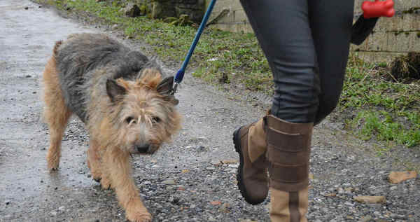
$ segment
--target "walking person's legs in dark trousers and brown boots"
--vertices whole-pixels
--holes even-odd
[[[312,127],[337,104],[348,55],[353,1],[339,7],[340,1],[317,1],[309,6],[307,1],[241,0],[241,4],[267,57],[276,88],[271,115],[235,131],[235,148],[241,157],[239,189],[246,200],[247,196],[264,200],[261,193],[255,199],[250,190],[267,186],[261,176],[267,166],[261,159],[266,154],[272,190],[270,218],[306,221]],[[327,52],[318,55],[320,50]],[[332,53],[335,50],[338,52]],[[320,56],[323,64],[318,69]],[[321,80],[319,70],[323,72]],[[335,76],[330,78],[330,74]]]

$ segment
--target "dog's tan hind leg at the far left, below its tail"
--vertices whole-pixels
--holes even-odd
[[[66,128],[71,111],[64,104],[64,97],[59,86],[55,57],[48,60],[43,72],[44,120],[50,129],[50,148],[48,148],[48,169],[55,170],[61,156],[62,135]]]

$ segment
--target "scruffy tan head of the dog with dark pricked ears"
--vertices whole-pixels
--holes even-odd
[[[162,80],[158,68],[143,69],[133,81],[106,82],[106,93],[118,114],[119,144],[130,153],[152,154],[181,128],[178,100],[171,95],[173,77]]]

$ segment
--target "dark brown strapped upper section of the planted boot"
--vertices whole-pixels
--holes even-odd
[[[267,117],[269,186],[298,191],[309,186],[309,156],[313,123],[288,123]]]

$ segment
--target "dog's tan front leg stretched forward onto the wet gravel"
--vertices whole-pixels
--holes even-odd
[[[119,148],[109,148],[103,161],[116,191],[118,202],[125,209],[127,219],[132,222],[151,221],[152,216],[144,207],[131,176],[129,154]]]

